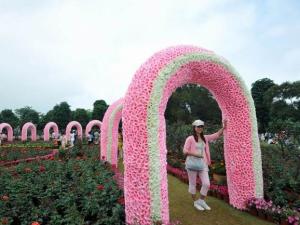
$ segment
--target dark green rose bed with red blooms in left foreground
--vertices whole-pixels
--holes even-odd
[[[97,160],[98,148],[80,150],[88,154],[75,148],[63,159],[0,168],[0,223],[125,224],[113,171]]]

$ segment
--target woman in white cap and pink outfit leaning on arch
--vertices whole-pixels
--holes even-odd
[[[204,201],[210,186],[208,166],[211,164],[211,160],[208,143],[216,140],[223,134],[224,129],[226,129],[226,120],[223,121],[223,127],[217,133],[211,135],[204,135],[204,122],[202,120],[195,120],[192,125],[193,135],[186,139],[183,147],[183,153],[187,155],[185,164],[189,178],[189,192],[192,195],[195,208],[198,210],[210,210],[211,208]],[[198,200],[196,200],[197,175],[202,183]]]

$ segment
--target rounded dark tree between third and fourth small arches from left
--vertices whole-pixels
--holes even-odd
[[[52,109],[52,120],[60,130],[65,130],[67,124],[72,120],[72,112],[67,102],[61,102]]]

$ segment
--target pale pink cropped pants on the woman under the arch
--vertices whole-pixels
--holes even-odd
[[[208,171],[187,170],[187,173],[189,177],[189,192],[193,195],[196,194],[196,180],[197,180],[197,175],[199,175],[202,183],[200,194],[206,196],[210,186]]]

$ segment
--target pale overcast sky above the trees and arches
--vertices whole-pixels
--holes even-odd
[[[225,57],[249,89],[300,80],[300,1],[0,0],[0,110],[111,104],[147,58],[180,44]]]

